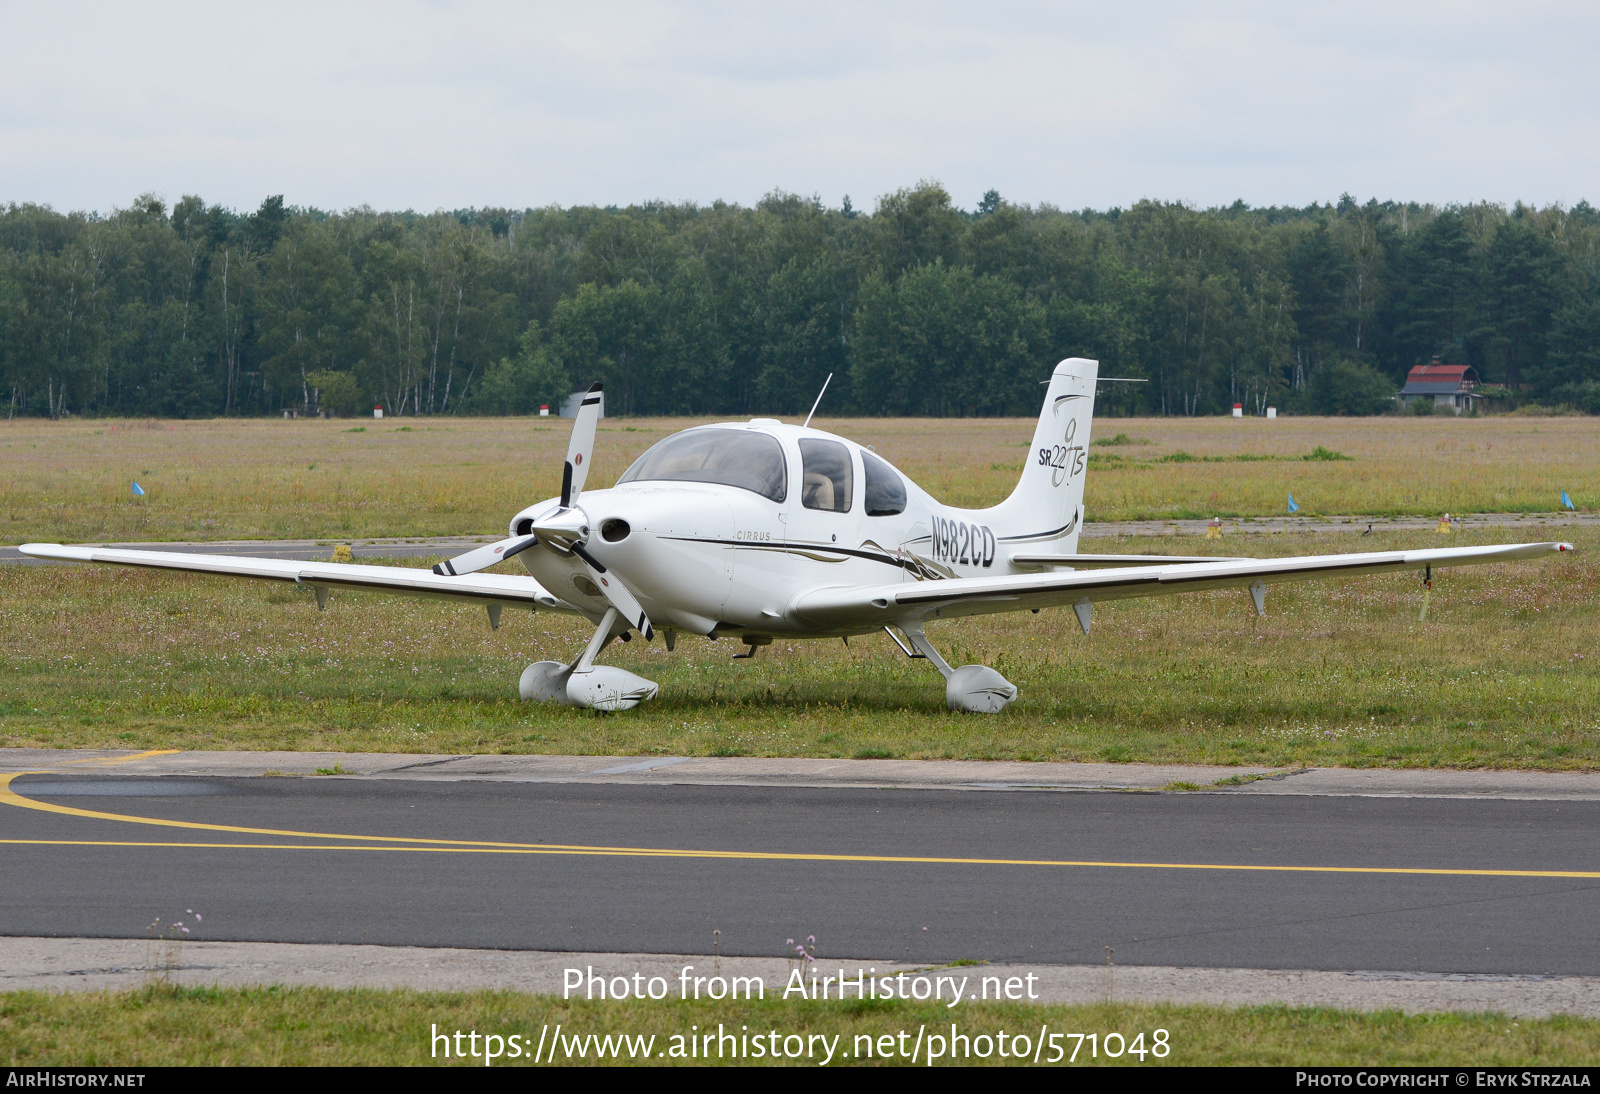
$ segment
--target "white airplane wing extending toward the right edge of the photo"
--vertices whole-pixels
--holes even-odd
[[[1518,561],[1568,550],[1573,550],[1571,544],[1506,544],[1299,558],[1227,558],[1171,566],[1118,566],[1086,573],[958,577],[896,585],[834,585],[802,592],[789,603],[786,614],[814,627],[875,629],[901,621],[954,619],[1098,600],[1165,597],[1202,589],[1248,587],[1256,582]],[[1061,560],[1064,565],[1070,561],[1070,558]]]

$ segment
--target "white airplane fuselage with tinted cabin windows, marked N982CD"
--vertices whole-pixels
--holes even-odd
[[[870,630],[806,625],[789,611],[798,593],[1018,573],[1013,553],[1075,542],[1077,525],[1074,515],[1070,528],[1043,526],[1048,518],[1040,528],[997,526],[998,507],[942,505],[870,448],[776,419],[675,433],[578,505],[589,518],[587,550],[624,579],[658,630],[755,641]],[[510,534],[558,507],[552,497],[523,509]],[[605,613],[578,558],[518,558],[590,619]]]

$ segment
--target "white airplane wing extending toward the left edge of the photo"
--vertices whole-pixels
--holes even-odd
[[[256,577],[310,585],[318,600],[328,589],[358,589],[410,597],[438,597],[474,605],[515,605],[546,611],[576,611],[533,577],[520,574],[470,574],[448,577],[411,566],[362,566],[358,563],[318,563],[294,558],[250,558],[245,555],[190,555],[187,552],[120,550],[115,547],[62,547],[61,544],[22,544],[18,547],[34,558],[58,561],[110,563],[144,569],[179,569],[192,574],[224,577]]]

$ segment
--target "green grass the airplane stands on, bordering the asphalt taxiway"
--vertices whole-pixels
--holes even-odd
[[[1101,550],[1310,553],[1485,542],[1499,529],[1370,537],[1125,539]],[[942,622],[954,664],[1021,688],[995,717],[888,638],[613,646],[661,683],[619,715],[515,697],[589,625],[507,611],[94,566],[0,566],[0,742],[590,755],[1198,761],[1600,769],[1600,533],[1576,555]],[[514,565],[514,563],[512,563]]]

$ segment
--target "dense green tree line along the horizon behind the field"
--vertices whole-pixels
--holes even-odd
[[[1600,210],[0,208],[8,417],[795,414],[829,373],[827,413],[1032,416],[1070,355],[1149,381],[1112,414],[1382,413],[1434,357],[1600,413]]]

